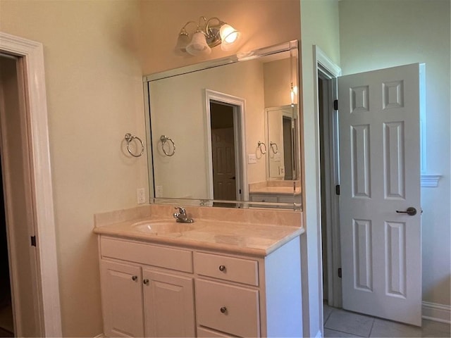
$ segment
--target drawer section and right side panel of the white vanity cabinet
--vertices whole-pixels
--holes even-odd
[[[197,337],[302,337],[299,237],[265,257],[194,253]]]

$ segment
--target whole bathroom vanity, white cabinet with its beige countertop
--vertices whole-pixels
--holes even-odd
[[[302,227],[133,217],[94,228],[106,336],[302,337]]]

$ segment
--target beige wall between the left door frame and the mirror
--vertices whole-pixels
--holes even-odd
[[[136,205],[146,158],[135,1],[0,1],[0,30],[44,44],[63,334],[102,332],[93,214]]]

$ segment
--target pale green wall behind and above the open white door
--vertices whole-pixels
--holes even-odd
[[[443,177],[438,187],[421,188],[423,300],[445,305],[451,298],[450,9],[449,0],[340,1],[344,75],[426,63],[426,172]]]

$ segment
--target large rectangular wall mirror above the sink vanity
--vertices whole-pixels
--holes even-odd
[[[302,209],[297,41],[144,77],[155,203]]]

